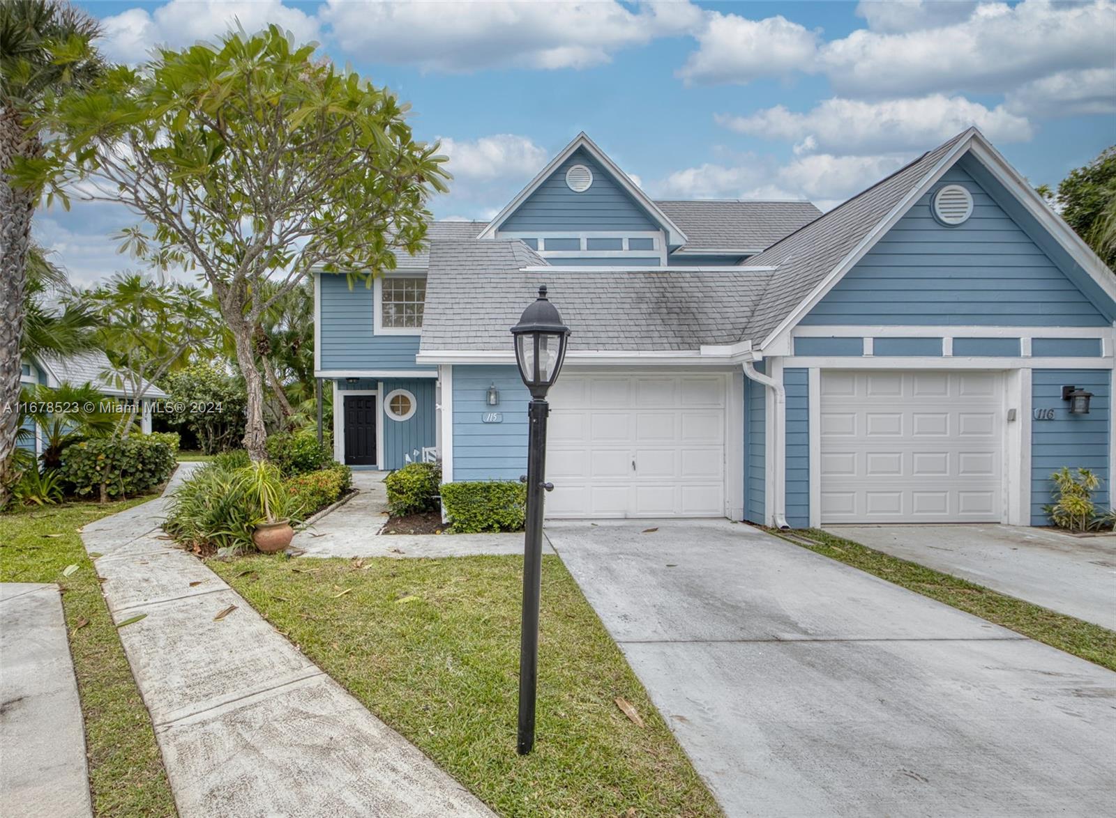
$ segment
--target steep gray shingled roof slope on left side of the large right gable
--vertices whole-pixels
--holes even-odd
[[[958,134],[759,255],[743,261],[743,266],[778,267],[768,279],[745,337],[753,343],[761,343],[969,134],[969,130]]]

